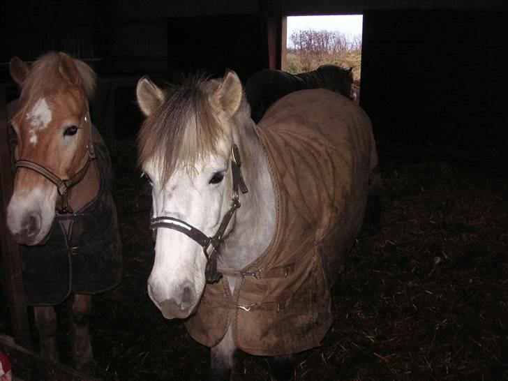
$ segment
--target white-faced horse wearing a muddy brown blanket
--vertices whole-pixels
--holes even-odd
[[[156,232],[149,296],[211,347],[212,378],[234,375],[237,349],[291,374],[281,364],[330,327],[329,288],[380,181],[371,122],[315,89],[256,126],[233,72],[165,91],[143,78],[137,102]]]

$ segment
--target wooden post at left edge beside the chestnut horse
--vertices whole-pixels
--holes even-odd
[[[16,343],[31,348],[27,304],[24,299],[20,248],[7,228],[6,208],[13,195],[6,90],[0,86],[0,240],[3,255],[3,285],[9,299],[10,322]]]

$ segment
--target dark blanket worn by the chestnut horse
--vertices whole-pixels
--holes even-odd
[[[94,148],[97,160],[93,163],[100,172],[98,195],[74,214],[57,214],[44,244],[20,245],[29,305],[59,304],[70,293],[96,294],[121,281],[121,241],[111,195],[110,155],[95,128]]]

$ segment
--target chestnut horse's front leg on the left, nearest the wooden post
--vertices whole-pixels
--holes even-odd
[[[57,343],[57,313],[52,306],[33,307],[39,331],[40,354],[45,359],[60,361]]]

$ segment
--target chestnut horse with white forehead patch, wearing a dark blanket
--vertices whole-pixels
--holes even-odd
[[[95,73],[64,53],[48,53],[33,66],[14,57],[10,74],[21,96],[10,119],[17,144],[7,223],[22,244],[27,303],[34,306],[41,353],[58,361],[53,306],[74,294],[73,358],[91,371],[91,294],[121,280],[110,157],[89,113]]]

